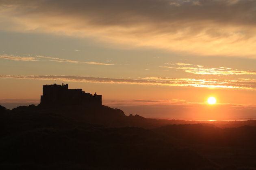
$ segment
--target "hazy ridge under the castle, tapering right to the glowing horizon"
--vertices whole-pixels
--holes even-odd
[[[84,121],[86,123],[100,124],[105,127],[143,127],[156,128],[170,124],[198,124],[207,123],[217,127],[240,127],[243,125],[256,126],[256,120],[248,121],[187,121],[187,120],[167,120],[167,119],[146,119],[139,115],[126,116],[124,112],[117,108],[108,106],[19,106],[12,109],[13,113],[52,113],[65,117]]]

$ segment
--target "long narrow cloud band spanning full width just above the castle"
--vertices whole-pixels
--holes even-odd
[[[235,89],[256,89],[254,79],[243,79],[237,81],[227,80],[206,80],[206,79],[183,79],[165,77],[145,77],[143,79],[112,79],[101,77],[80,77],[80,76],[57,76],[57,75],[0,75],[0,78],[13,79],[36,79],[36,80],[61,80],[90,83],[116,83],[116,84],[136,84],[136,85],[165,85],[165,86],[185,86],[185,87],[217,87]],[[165,81],[159,81],[165,80]]]

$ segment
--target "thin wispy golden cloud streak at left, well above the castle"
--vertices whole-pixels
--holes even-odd
[[[75,63],[75,64],[95,64],[95,65],[114,65],[114,64],[106,64],[106,63],[98,63],[98,62],[78,62],[74,60],[66,60],[56,57],[46,57],[42,55],[36,55],[35,57],[22,57],[20,55],[0,55],[0,58],[8,59],[8,60],[18,60],[18,61],[42,61],[42,59],[46,59],[46,61],[51,62],[67,62],[67,63]]]

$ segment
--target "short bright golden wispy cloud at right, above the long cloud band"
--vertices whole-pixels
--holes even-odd
[[[197,67],[193,67],[193,64],[185,64],[185,63],[176,63],[176,64],[165,63],[165,64],[173,65],[173,66],[160,66],[160,67],[180,69],[192,74],[212,74],[212,75],[220,75],[220,76],[242,75],[242,74],[256,75],[256,71],[254,70],[238,70],[238,69],[232,69],[232,68],[226,68],[226,67],[208,68],[200,65],[197,65]]]

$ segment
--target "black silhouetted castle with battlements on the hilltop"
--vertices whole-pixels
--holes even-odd
[[[102,95],[85,93],[82,89],[68,89],[68,84],[43,85],[40,105],[101,106]]]

